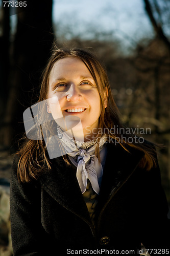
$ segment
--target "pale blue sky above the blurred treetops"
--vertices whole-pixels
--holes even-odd
[[[54,0],[53,20],[59,24],[59,33],[67,27],[68,34],[74,31],[85,37],[93,28],[112,31],[121,39],[153,35],[142,0]]]

